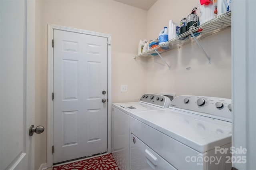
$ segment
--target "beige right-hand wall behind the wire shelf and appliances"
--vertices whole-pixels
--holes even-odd
[[[158,38],[169,20],[179,23],[198,2],[158,0],[148,10],[148,39]],[[158,56],[148,61],[148,92],[231,99],[231,29],[199,42],[211,58],[211,64],[196,43],[162,53],[171,70]],[[191,70],[187,71],[186,67],[191,67]]]

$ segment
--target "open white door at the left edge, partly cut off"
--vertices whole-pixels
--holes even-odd
[[[33,6],[26,0],[0,1],[1,170],[34,169],[34,138],[28,134],[34,123]]]

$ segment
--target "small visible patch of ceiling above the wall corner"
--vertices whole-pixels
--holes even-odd
[[[154,3],[157,0],[114,0],[117,2],[121,2],[123,4],[127,4],[130,6],[134,6],[143,10],[149,10],[149,8],[151,8],[152,5],[154,5]]]

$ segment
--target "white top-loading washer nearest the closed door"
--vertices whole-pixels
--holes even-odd
[[[156,94],[144,94],[138,102],[112,105],[112,154],[120,170],[130,170],[130,113],[156,111],[169,105],[168,97]]]

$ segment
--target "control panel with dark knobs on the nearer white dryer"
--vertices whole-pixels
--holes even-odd
[[[178,96],[172,100],[169,108],[223,121],[232,121],[231,99],[206,96]]]

